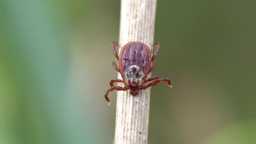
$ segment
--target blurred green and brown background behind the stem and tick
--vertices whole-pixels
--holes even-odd
[[[256,144],[256,10],[158,0],[151,144]],[[0,1],[0,144],[111,144],[119,0]]]

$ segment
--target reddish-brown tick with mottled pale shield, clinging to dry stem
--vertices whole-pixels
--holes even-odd
[[[141,42],[129,42],[122,47],[120,55],[118,56],[115,47],[119,47],[118,43],[112,43],[112,51],[115,55],[115,58],[118,60],[118,66],[115,62],[112,62],[112,65],[115,70],[117,70],[122,79],[112,79],[110,81],[110,86],[104,96],[110,104],[108,98],[108,93],[113,90],[117,91],[126,91],[130,89],[130,94],[135,96],[138,95],[139,89],[146,89],[151,86],[157,85],[159,82],[167,82],[168,86],[171,86],[171,81],[168,78],[160,79],[157,76],[153,76],[147,79],[147,76],[152,72],[157,64],[151,66],[151,62],[156,58],[159,52],[160,45],[159,43],[154,43],[155,51],[153,56],[151,56],[151,50],[148,46]],[[114,86],[115,82],[122,82],[125,84],[124,87]]]

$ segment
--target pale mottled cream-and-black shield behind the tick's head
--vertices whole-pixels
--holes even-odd
[[[138,65],[129,66],[124,72],[124,81],[127,85],[138,85],[139,87],[144,84],[145,74]]]

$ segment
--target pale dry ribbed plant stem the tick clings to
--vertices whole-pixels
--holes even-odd
[[[119,45],[139,41],[152,52],[155,11],[156,0],[121,0]],[[118,79],[122,79],[119,73]],[[117,95],[115,143],[147,143],[150,88],[140,90],[136,96],[129,90],[118,91]]]

